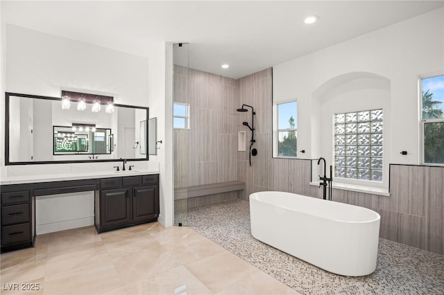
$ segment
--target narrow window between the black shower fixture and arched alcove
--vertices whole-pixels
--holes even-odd
[[[298,150],[298,102],[277,103],[274,109],[273,154],[275,157],[294,158]]]

